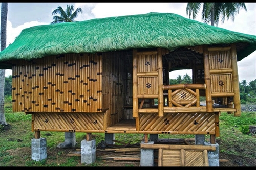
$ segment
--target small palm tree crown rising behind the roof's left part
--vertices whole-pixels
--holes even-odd
[[[54,21],[52,21],[51,24],[62,23],[62,22],[78,22],[74,19],[77,17],[78,13],[82,13],[82,9],[77,8],[74,12],[73,11],[74,11],[73,5],[67,4],[67,8],[65,11],[62,9],[62,7],[58,6],[58,8],[52,12],[52,15],[54,15],[53,16]],[[60,16],[56,14],[60,14]]]

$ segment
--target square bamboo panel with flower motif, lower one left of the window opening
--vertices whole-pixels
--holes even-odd
[[[158,77],[138,77],[138,94],[158,94]]]

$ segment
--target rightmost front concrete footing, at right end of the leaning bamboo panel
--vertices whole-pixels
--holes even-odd
[[[210,144],[208,142],[204,142],[204,145],[216,147],[216,151],[208,151],[209,166],[220,166],[219,144]]]

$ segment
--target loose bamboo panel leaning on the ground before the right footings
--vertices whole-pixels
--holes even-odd
[[[158,166],[209,166],[207,150],[158,151]]]

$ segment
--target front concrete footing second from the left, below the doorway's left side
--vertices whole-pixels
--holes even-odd
[[[81,163],[91,164],[96,160],[96,140],[81,141]]]

